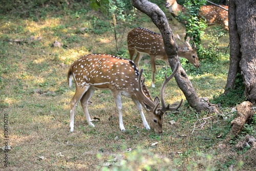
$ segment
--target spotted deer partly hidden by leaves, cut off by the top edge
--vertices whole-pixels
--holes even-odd
[[[179,12],[185,13],[183,5],[179,5],[176,0],[167,0],[165,6],[169,8],[169,12],[174,13],[176,16]],[[228,10],[228,6],[220,5]],[[203,5],[200,7],[199,17],[206,20],[208,26],[219,25],[228,31],[228,11],[214,5]]]

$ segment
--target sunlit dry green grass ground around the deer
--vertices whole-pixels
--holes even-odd
[[[8,152],[10,170],[107,170],[103,163],[116,156],[114,164],[126,161],[123,170],[228,170],[231,164],[239,170],[240,160],[248,161],[243,156],[246,152],[240,153],[234,148],[239,139],[232,139],[232,143],[225,141],[230,121],[236,115],[236,112],[230,113],[231,108],[244,100],[229,98],[227,106],[226,97],[219,96],[224,92],[229,67],[229,56],[225,54],[228,34],[220,38],[218,53],[199,56],[199,69],[181,59],[198,96],[207,97],[214,103],[221,102],[219,111],[224,117],[197,113],[184,101],[178,113],[167,112],[163,134],[157,135],[143,128],[132,100],[123,98],[123,120],[127,131],[120,132],[118,118],[111,117],[117,114],[111,92],[96,91],[90,99],[89,113],[92,118],[99,117],[100,121],[94,123],[95,127],[88,126],[78,104],[75,130],[70,133],[70,99],[75,86],[73,83],[71,89],[68,87],[66,74],[71,62],[90,53],[129,58],[126,35],[130,30],[134,27],[159,30],[147,16],[137,11],[132,24],[117,22],[119,51],[116,52],[110,17],[90,10],[87,3],[36,2],[39,3],[37,8],[29,3],[31,9],[22,1],[16,2],[14,7],[19,11],[23,5],[22,13],[12,11],[8,6],[5,10],[9,13],[0,17],[0,114],[8,114],[8,143],[12,147]],[[175,34],[184,33],[176,20],[169,24]],[[30,40],[31,36],[35,39]],[[41,40],[36,40],[37,37]],[[205,36],[203,46],[207,48],[211,39]],[[65,46],[51,47],[54,40]],[[177,43],[182,45],[182,41],[177,40]],[[164,73],[171,71],[170,68],[166,70],[164,62],[157,61],[156,88],[151,88],[148,59],[144,57],[140,67],[145,69],[146,86],[155,97],[159,96]],[[165,88],[166,103],[181,98],[185,99],[182,91],[174,79],[170,80]],[[0,125],[4,128],[4,118],[1,118]],[[204,119],[205,123],[203,118],[208,118]],[[168,123],[171,120],[176,123]],[[255,126],[254,118],[254,122],[245,125],[241,139],[245,134],[255,137]],[[0,144],[4,146],[3,132],[0,137]],[[152,146],[155,142],[158,144]],[[129,148],[132,152],[126,152]],[[3,155],[0,152],[0,168],[4,168]],[[41,160],[42,156],[44,159]],[[246,163],[242,168],[250,170],[253,165]]]

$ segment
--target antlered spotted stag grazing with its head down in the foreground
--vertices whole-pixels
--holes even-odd
[[[145,78],[142,80],[143,69],[138,71],[132,60],[106,54],[90,54],[74,61],[68,71],[69,87],[72,84],[72,76],[76,84],[76,92],[71,99],[70,106],[70,132],[74,131],[74,112],[76,104],[81,101],[83,112],[89,125],[94,126],[88,112],[87,103],[92,97],[95,90],[109,89],[115,99],[117,111],[119,115],[119,127],[121,131],[125,131],[122,120],[122,103],[121,95],[130,97],[137,105],[143,125],[146,130],[150,130],[142,107],[146,110],[148,120],[153,126],[156,133],[162,133],[163,115],[166,111],[177,110],[181,102],[175,106],[165,105],[164,103],[164,87],[166,83],[175,75],[179,67],[177,62],[174,72],[166,77],[162,84],[160,99],[162,107],[159,108],[160,100],[156,97],[153,101],[148,89],[144,84]]]

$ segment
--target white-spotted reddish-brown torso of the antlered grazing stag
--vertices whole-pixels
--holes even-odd
[[[74,61],[70,71],[77,88],[94,86],[96,89],[125,90],[131,95],[138,91],[139,71],[132,60],[114,55],[90,54]]]

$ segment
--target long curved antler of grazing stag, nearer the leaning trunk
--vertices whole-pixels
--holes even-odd
[[[174,77],[174,75],[175,75],[176,72],[178,71],[179,66],[180,66],[180,62],[177,62],[176,67],[175,67],[173,73],[172,73],[170,76],[168,76],[168,77],[166,76],[166,73],[165,73],[165,75],[164,75],[165,79],[164,79],[164,82],[163,82],[163,84],[162,84],[162,88],[161,88],[161,92],[160,92],[160,98],[161,98],[161,103],[162,103],[162,109],[158,109],[158,110],[160,110],[160,111],[163,112],[163,113],[166,112],[166,111],[175,111],[175,110],[177,110],[178,108],[180,108],[180,106],[181,106],[181,104],[182,104],[183,99],[181,99],[180,103],[179,103],[177,106],[175,106],[175,107],[170,107],[170,104],[168,104],[168,105],[166,106],[166,105],[165,105],[165,102],[164,102],[164,88],[165,88],[165,85],[166,85],[166,83],[167,83],[171,78]],[[154,110],[155,110],[155,109],[154,109]]]

